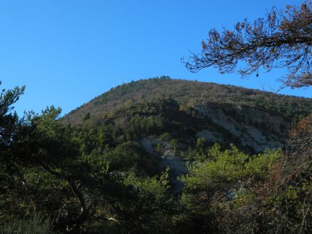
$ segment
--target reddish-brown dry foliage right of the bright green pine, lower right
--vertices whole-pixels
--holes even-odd
[[[213,201],[222,233],[310,233],[312,228],[312,114],[293,125],[284,159],[265,181],[245,181],[241,201]],[[307,185],[305,188],[304,186]],[[291,186],[291,187],[290,187]],[[295,191],[295,197],[291,190]],[[250,195],[248,195],[248,193]]]

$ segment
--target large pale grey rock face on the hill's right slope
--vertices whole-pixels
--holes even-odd
[[[288,121],[263,109],[217,105],[213,102],[198,105],[194,109],[200,116],[209,117],[212,123],[239,138],[241,145],[250,146],[256,152],[283,147],[288,138]],[[211,129],[203,129],[197,132],[196,136],[211,142],[223,141],[220,132]]]

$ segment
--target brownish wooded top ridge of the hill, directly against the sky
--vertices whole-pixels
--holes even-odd
[[[114,111],[120,107],[157,98],[173,98],[184,107],[205,105],[207,102],[259,107],[268,111],[277,111],[290,121],[297,121],[310,114],[312,110],[312,100],[309,98],[284,96],[210,82],[173,80],[162,76],[137,82],[132,81],[112,88],[65,115],[63,123],[77,124],[89,115],[103,115],[107,111]]]

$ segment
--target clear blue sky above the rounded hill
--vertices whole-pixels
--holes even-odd
[[[26,85],[15,109],[63,114],[125,82],[171,78],[272,91],[279,71],[241,80],[215,69],[189,73],[181,57],[199,52],[210,28],[231,28],[293,0],[0,1],[1,88]],[[312,89],[280,93],[312,97]]]

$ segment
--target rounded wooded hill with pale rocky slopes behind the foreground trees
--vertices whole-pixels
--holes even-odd
[[[307,98],[162,77],[111,89],[62,121],[105,132],[113,140],[103,144],[136,141],[161,159],[160,169],[170,166],[176,178],[185,171],[183,161],[199,154],[198,141],[202,147],[219,143],[225,149],[234,143],[252,154],[283,148],[291,122],[311,110]]]

